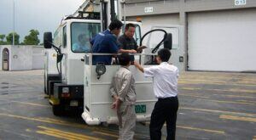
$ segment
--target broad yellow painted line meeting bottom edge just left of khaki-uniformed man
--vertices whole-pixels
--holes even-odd
[[[75,132],[64,132],[55,128],[49,128],[46,126],[38,126],[38,128],[44,129],[44,132],[47,133],[53,133],[53,134],[58,134],[64,137],[69,137],[69,138],[73,138],[73,139],[88,139],[88,140],[101,140],[102,138],[97,138],[97,137],[91,137],[91,136],[87,136],[84,134],[79,134],[79,133],[75,133]]]

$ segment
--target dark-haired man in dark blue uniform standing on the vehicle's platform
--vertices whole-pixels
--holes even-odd
[[[119,20],[113,20],[108,26],[108,30],[98,33],[90,43],[92,44],[92,53],[119,53],[117,36],[121,31],[123,23]],[[94,55],[92,64],[111,64],[112,56]]]

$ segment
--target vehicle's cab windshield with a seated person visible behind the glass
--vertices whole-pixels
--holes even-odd
[[[71,25],[71,50],[73,53],[91,52],[90,39],[101,31],[99,23],[73,23]]]

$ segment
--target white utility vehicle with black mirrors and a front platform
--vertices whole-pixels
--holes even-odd
[[[96,33],[107,29],[110,19],[120,17],[119,12],[118,16],[114,14],[114,9],[116,9],[114,6],[116,5],[117,11],[119,11],[120,5],[123,4],[119,0],[105,0],[99,4],[100,13],[79,12],[79,18],[67,17],[62,20],[61,25],[55,31],[53,41],[50,32],[44,33],[44,48],[48,52],[45,61],[45,92],[49,95],[53,113],[62,115],[67,109],[80,108],[84,111],[83,119],[89,125],[117,122],[115,110],[110,108],[113,99],[110,97],[109,88],[114,73],[119,69],[119,64],[92,65],[92,56],[99,54],[76,51],[73,47],[73,44],[79,42],[78,38],[81,34],[85,34],[89,38],[86,43],[90,46],[90,39],[96,36]],[[135,57],[136,61],[143,64],[144,67],[154,65],[154,55],[160,46],[172,48],[172,34],[155,29],[141,37],[141,23],[133,23],[137,25],[134,37],[140,45],[142,45],[144,36],[150,35],[151,32],[163,32],[163,37],[154,48],[147,48],[143,51],[144,53],[136,54]],[[52,67],[56,69],[52,69]],[[144,78],[143,74],[133,65],[130,70],[136,81],[137,120],[149,120],[156,101],[152,79]]]

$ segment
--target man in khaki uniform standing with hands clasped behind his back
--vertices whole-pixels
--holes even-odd
[[[136,102],[135,81],[128,69],[131,65],[131,56],[122,53],[119,56],[120,69],[113,76],[110,87],[111,96],[114,98],[113,109],[117,109],[119,119],[119,140],[132,140],[136,127]]]

